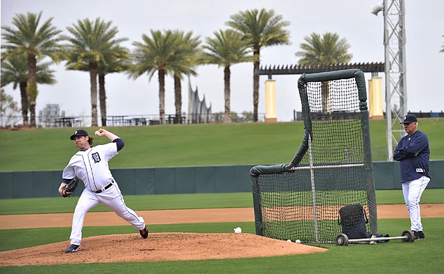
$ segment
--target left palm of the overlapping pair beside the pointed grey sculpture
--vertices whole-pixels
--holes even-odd
[[[138,78],[142,74],[148,74],[151,81],[157,71],[159,80],[159,117],[160,123],[165,123],[165,75],[173,73],[176,67],[176,51],[180,47],[180,36],[171,30],[153,31],[151,37],[143,34],[143,42],[133,42],[134,65],[130,76]]]

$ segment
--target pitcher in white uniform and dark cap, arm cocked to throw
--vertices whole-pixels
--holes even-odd
[[[99,203],[103,203],[122,219],[133,225],[134,228],[137,228],[142,238],[148,238],[148,228],[146,228],[144,219],[137,216],[133,209],[126,206],[119,186],[108,167],[108,161],[123,148],[123,140],[103,128],[97,130],[95,134],[96,136],[105,136],[111,142],[92,146],[94,137],[90,137],[83,129],[76,130],[69,138],[74,140],[80,151],[71,157],[68,165],[63,170],[62,183],[58,191],[62,195],[62,187],[75,177],[84,182],[85,189],[78,198],[74,210],[71,236],[69,237],[71,245],[65,252],[80,250],[85,214]]]

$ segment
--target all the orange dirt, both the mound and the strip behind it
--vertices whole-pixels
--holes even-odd
[[[253,208],[181,209],[137,212],[150,224],[212,223],[254,221]],[[409,218],[405,205],[378,205],[378,219]],[[444,204],[421,205],[422,218],[443,218]],[[70,227],[72,214],[30,214],[0,216],[0,229]],[[20,225],[24,224],[24,225]],[[128,225],[114,212],[89,212],[85,226]],[[139,234],[87,237],[82,250],[67,254],[69,241],[0,252],[0,266],[49,265],[70,262],[148,262],[200,259],[271,257],[326,251],[306,246],[234,233],[153,233],[148,239]],[[115,256],[119,250],[119,256]],[[69,257],[69,259],[67,259]]]

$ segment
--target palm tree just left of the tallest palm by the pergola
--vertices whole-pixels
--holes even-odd
[[[230,66],[240,62],[252,62],[257,55],[250,55],[250,43],[242,39],[241,33],[231,29],[214,32],[214,38],[207,37],[203,45],[202,62],[223,67],[223,85],[225,97],[224,123],[230,119]]]

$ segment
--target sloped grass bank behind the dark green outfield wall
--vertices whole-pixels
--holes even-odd
[[[429,137],[430,157],[444,160],[444,119],[419,121]],[[90,134],[96,128],[86,128]],[[69,140],[75,128],[0,130],[0,171],[62,170],[77,148]],[[302,122],[109,128],[125,140],[111,168],[209,166],[290,162],[303,136]],[[374,160],[385,160],[385,121],[370,121]],[[94,144],[109,142],[97,137]],[[383,151],[383,155],[381,155]],[[381,158],[382,156],[382,158]]]

